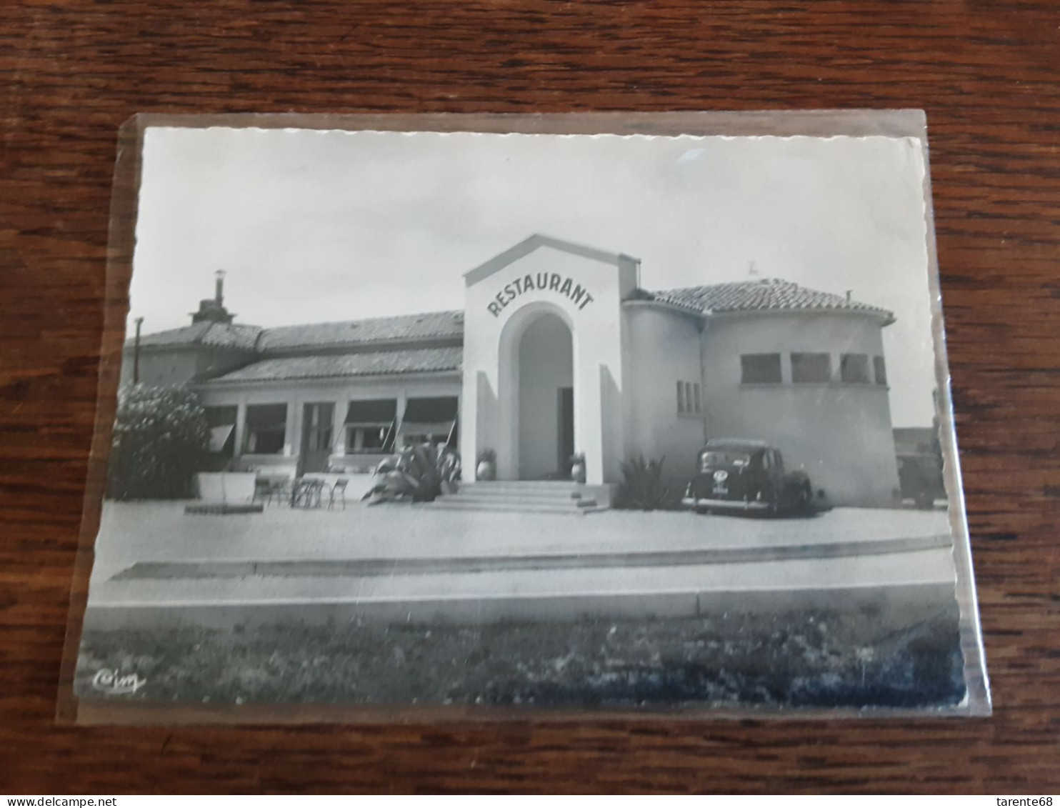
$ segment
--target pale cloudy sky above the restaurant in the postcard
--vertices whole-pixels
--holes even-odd
[[[935,387],[912,138],[146,131],[129,323],[190,323],[225,269],[236,322],[463,308],[462,275],[531,233],[641,260],[649,289],[781,278],[893,311],[896,426]]]

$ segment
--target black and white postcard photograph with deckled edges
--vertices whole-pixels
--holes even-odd
[[[988,713],[926,155],[146,126],[77,699]]]

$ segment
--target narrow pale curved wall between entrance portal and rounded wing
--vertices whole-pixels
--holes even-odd
[[[678,414],[677,382],[700,384],[702,391],[700,317],[630,302],[625,321],[633,391],[626,397],[626,456],[665,457],[667,474],[687,482],[705,440],[704,416]]]

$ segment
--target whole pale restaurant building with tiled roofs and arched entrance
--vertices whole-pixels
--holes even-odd
[[[126,345],[123,381],[192,385],[241,470],[369,471],[412,441],[496,455],[498,479],[589,485],[712,437],[752,438],[836,504],[889,506],[898,473],[882,329],[894,316],[782,280],[651,292],[640,262],[532,235],[464,275],[463,311],[259,328],[216,295]]]

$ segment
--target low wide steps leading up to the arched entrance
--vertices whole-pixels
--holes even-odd
[[[610,491],[571,480],[497,480],[461,482],[456,493],[426,507],[516,513],[594,513],[607,510]]]

